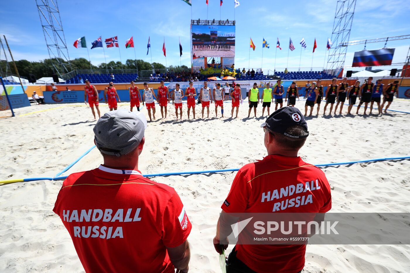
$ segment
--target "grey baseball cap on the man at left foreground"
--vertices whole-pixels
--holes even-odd
[[[118,109],[105,113],[97,121],[93,128],[94,139],[100,152],[119,157],[137,148],[146,128],[144,114]]]

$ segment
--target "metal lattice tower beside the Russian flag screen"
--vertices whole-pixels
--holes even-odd
[[[333,22],[332,38],[334,47],[330,48],[328,69],[343,68],[346,59],[347,46],[343,43],[349,41],[350,30],[355,13],[356,0],[337,0],[335,20]]]

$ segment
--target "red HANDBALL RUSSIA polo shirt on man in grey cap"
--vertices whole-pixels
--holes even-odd
[[[53,211],[86,272],[174,272],[166,247],[192,227],[173,188],[103,165],[69,175]]]

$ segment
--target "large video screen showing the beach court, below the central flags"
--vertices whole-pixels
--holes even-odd
[[[192,57],[235,57],[235,26],[192,25]]]

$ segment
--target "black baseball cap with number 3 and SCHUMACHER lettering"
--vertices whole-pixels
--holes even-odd
[[[301,125],[305,132],[305,136],[295,136],[293,134],[285,133],[287,128],[293,125]],[[274,111],[260,127],[267,127],[269,130],[289,136],[295,139],[304,139],[309,135],[307,131],[307,123],[301,111],[296,107],[282,107]]]

